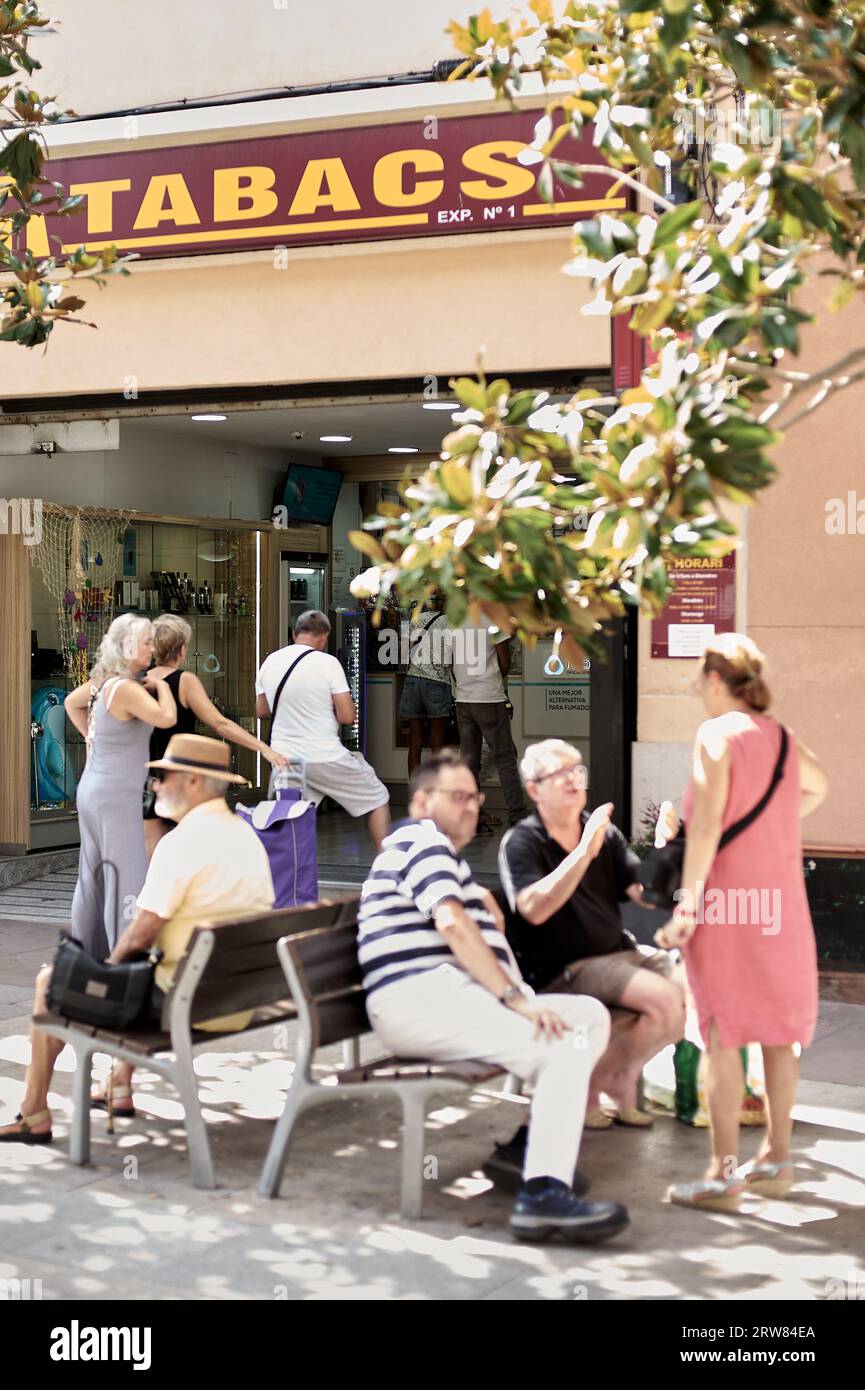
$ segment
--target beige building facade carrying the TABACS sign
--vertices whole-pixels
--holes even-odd
[[[321,574],[328,606],[352,605],[364,562],[348,531],[406,459],[435,453],[448,416],[424,406],[446,402],[448,379],[473,373],[481,348],[488,373],[553,395],[627,385],[638,370],[633,345],[612,342],[609,320],[581,317],[585,286],[562,275],[567,227],[624,206],[622,192],[599,179],[551,213],[516,161],[540,88],[527,82],[512,113],[484,83],[438,79],[453,57],[446,24],[473,8],[430,0],[406,26],[395,0],[321,0],[313,26],[296,4],[261,0],[241,28],[236,7],[188,0],[168,31],[129,0],[95,0],[86,24],[57,0],[58,31],[35,44],[39,88],[76,113],[49,136],[51,168],[88,195],[64,245],[115,242],[139,259],[129,277],[86,292],[96,331],[60,327],[45,356],[3,350],[0,493],[68,514],[104,509],[139,550],[152,546],[150,573],[189,575],[195,560],[186,582],[197,603],[203,575],[214,609],[195,609],[199,673],[216,662],[211,689],[227,681],[224,703],[241,717],[249,669],[284,639],[305,582],[312,594],[305,571],[316,584]],[[33,225],[36,249],[54,231]],[[818,303],[823,284],[808,295]],[[861,329],[858,304],[822,316],[805,366],[832,361]],[[837,884],[843,870],[847,898],[865,852],[864,428],[865,385],[798,425],[779,446],[777,482],[737,518],[734,569],[712,575],[736,626],[768,653],[777,714],[827,766],[832,794],[805,842],[815,873]],[[321,438],[331,435],[350,438]],[[46,441],[53,455],[33,452]],[[414,453],[391,452],[401,448]],[[274,530],[289,464],[342,473],[328,525]],[[827,530],[830,500],[851,496],[852,530]],[[33,717],[31,634],[39,649],[39,605],[50,603],[14,539],[0,537],[14,595],[0,619],[0,842],[28,849],[38,758],[21,731]],[[249,594],[245,613],[224,613],[238,631],[217,652],[206,620],[218,619],[220,549],[234,556],[227,607],[242,585]],[[140,602],[150,591],[135,581]],[[517,742],[577,741],[627,830],[687,780],[695,660],[672,651],[681,648],[640,619],[611,637],[602,670],[552,681],[541,649],[522,653],[512,681]],[[398,677],[370,663],[367,687],[367,756],[398,788]],[[847,929],[836,954],[865,959]]]

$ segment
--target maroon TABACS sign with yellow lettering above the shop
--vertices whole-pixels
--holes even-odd
[[[538,113],[313,131],[252,140],[50,160],[49,178],[85,203],[32,218],[36,254],[115,245],[142,257],[316,242],[381,240],[573,222],[627,206],[612,178],[538,196],[517,161]],[[591,129],[559,158],[598,163]]]

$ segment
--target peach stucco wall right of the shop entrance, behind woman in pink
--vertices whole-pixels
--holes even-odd
[[[825,367],[865,341],[861,300],[841,314],[823,309],[832,281],[801,296],[819,311],[795,363]],[[820,758],[830,794],[804,821],[812,848],[865,849],[865,535],[830,535],[826,502],[865,498],[861,441],[865,384],[825,403],[775,450],[779,478],[747,512],[738,560],[738,626],[769,660],[773,710]],[[647,798],[679,795],[701,719],[690,695],[697,663],[651,659],[649,624],[640,634],[636,813]]]

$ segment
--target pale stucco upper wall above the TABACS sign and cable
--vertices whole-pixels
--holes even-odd
[[[51,0],[35,85],[81,115],[428,71],[456,57],[449,19],[474,0]]]

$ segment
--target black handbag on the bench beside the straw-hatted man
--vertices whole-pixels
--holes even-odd
[[[76,1023],[122,1031],[150,1022],[150,999],[161,951],[140,951],[117,965],[96,960],[68,931],[60,933],[60,945],[51,967],[47,1004]]]

